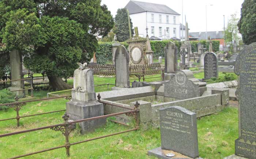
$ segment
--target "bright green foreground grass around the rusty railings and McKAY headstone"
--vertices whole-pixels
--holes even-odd
[[[20,115],[31,115],[65,109],[66,102],[67,100],[65,99],[31,102],[20,109]],[[15,114],[13,109],[0,111],[0,119],[15,117]],[[22,118],[20,119],[20,127],[16,127],[16,120],[1,121],[0,134],[63,123],[63,119],[61,118],[63,114],[64,112],[58,112]],[[130,123],[130,125],[133,125],[133,123]],[[71,132],[69,141],[70,143],[74,143],[76,141],[108,135],[130,128],[108,121],[105,127],[99,128],[94,133],[87,135],[80,135],[79,129],[75,129]],[[234,140],[238,136],[237,108],[226,108],[223,112],[218,114],[202,117],[197,120],[197,128],[199,155],[201,157],[207,159],[221,159],[234,154]],[[61,132],[50,129],[2,137],[0,138],[0,158],[10,158],[40,151],[46,148],[61,146],[64,143],[65,138]],[[149,129],[147,131],[139,130],[71,146],[70,158],[155,159],[154,157],[147,156],[146,153],[148,150],[160,146],[161,138],[159,129]],[[26,158],[63,159],[68,157],[65,155],[65,148],[60,148]]]

